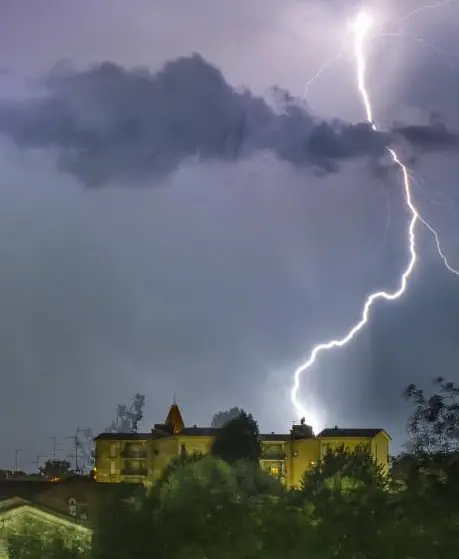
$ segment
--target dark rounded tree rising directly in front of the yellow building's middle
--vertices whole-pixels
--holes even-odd
[[[238,460],[258,463],[261,454],[260,433],[253,416],[241,411],[226,423],[214,439],[212,454],[229,464]]]

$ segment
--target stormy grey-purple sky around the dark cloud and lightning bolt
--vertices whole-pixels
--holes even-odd
[[[392,33],[371,46],[376,119],[386,127],[425,125],[434,111],[458,132],[459,2],[397,20],[422,4],[369,7]],[[342,0],[3,0],[0,97],[11,103],[43,95],[52,85],[42,80],[37,91],[33,80],[65,59],[59,71],[79,76],[69,90],[79,122],[86,130],[102,121],[109,127],[109,108],[91,105],[93,89],[85,89],[88,76],[99,84],[102,70],[88,74],[88,67],[110,62],[155,74],[192,53],[202,57],[196,67],[185,61],[163,74],[164,85],[167,76],[187,73],[173,102],[177,119],[186,99],[198,107],[201,89],[193,80],[198,72],[197,84],[208,75],[207,63],[238,92],[246,86],[272,103],[268,88],[278,86],[301,97],[309,78],[342,49],[358,6]],[[173,394],[188,424],[206,425],[215,411],[234,405],[252,412],[265,431],[285,431],[299,419],[289,400],[295,368],[315,343],[352,326],[368,293],[395,288],[408,257],[408,215],[396,172],[375,165],[371,150],[357,148],[339,160],[336,172],[316,172],[312,155],[299,161],[291,151],[297,144],[279,139],[281,133],[288,139],[302,118],[308,134],[314,119],[363,121],[354,71],[348,49],[308,88],[309,116],[278,121],[265,111],[266,141],[268,128],[260,132],[250,120],[244,130],[253,134],[243,156],[234,142],[220,151],[204,143],[209,158],[166,158],[167,172],[145,171],[131,181],[125,170],[137,162],[137,144],[118,142],[110,151],[111,143],[107,152],[98,136],[91,173],[101,165],[105,178],[97,188],[83,180],[87,161],[81,171],[63,160],[80,146],[69,144],[75,135],[66,128],[64,138],[59,128],[57,140],[49,136],[51,129],[58,133],[59,103],[69,99],[60,82],[48,120],[41,113],[35,119],[30,109],[27,118],[34,118],[27,126],[21,121],[20,141],[3,129],[0,466],[13,466],[15,449],[22,448],[21,465],[30,467],[38,453],[50,451],[47,437],[56,436],[63,447],[77,426],[103,430],[116,404],[136,392],[147,397],[145,429],[165,418]],[[107,89],[107,99],[116,96],[131,114],[134,82],[116,79],[119,87]],[[258,115],[254,98],[241,99],[237,110]],[[208,110],[225,112],[220,105]],[[147,97],[135,111],[139,122],[142,111],[150,122],[160,109],[151,112]],[[205,111],[190,114],[193,126],[203,123],[209,132]],[[1,117],[0,110],[0,124]],[[167,146],[175,149],[171,121],[165,122]],[[157,135],[162,130],[155,127]],[[217,124],[212,134],[218,136]],[[81,141],[87,138],[94,140]],[[204,144],[199,136],[198,155]],[[107,153],[116,176],[106,172]],[[416,153],[413,172],[421,179],[414,186],[417,204],[459,268],[457,153]],[[321,426],[383,427],[396,448],[404,438],[406,384],[428,385],[440,374],[459,380],[459,279],[445,271],[422,228],[418,251],[406,296],[378,305],[352,344],[322,355],[304,376],[302,397]]]

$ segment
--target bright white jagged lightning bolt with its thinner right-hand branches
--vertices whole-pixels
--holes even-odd
[[[434,9],[437,7],[440,7],[442,5],[447,5],[450,4],[452,2],[452,0],[449,0],[447,2],[441,2],[437,5],[431,5],[431,6],[424,6],[423,8],[419,8],[413,12],[411,12],[410,14],[408,14],[407,16],[404,17],[404,19],[409,19],[410,17],[413,17],[416,13],[422,11],[423,9]],[[353,41],[353,55],[354,55],[354,60],[355,60],[355,64],[356,64],[356,81],[357,81],[357,89],[360,93],[360,97],[362,99],[362,103],[365,109],[365,115],[366,115],[366,119],[369,122],[370,126],[372,127],[372,129],[374,131],[378,131],[378,128],[376,126],[376,124],[374,123],[374,118],[373,118],[373,109],[371,106],[371,99],[370,99],[370,95],[368,93],[367,87],[366,87],[366,57],[365,57],[365,45],[366,45],[366,41],[368,39],[368,33],[371,29],[371,19],[369,18],[369,16],[366,14],[366,12],[362,11],[360,12],[357,17],[355,18],[355,21],[353,23],[353,36],[354,36],[354,41]],[[409,220],[409,225],[408,225],[408,248],[409,248],[409,260],[408,263],[406,265],[406,268],[404,270],[404,272],[402,273],[401,277],[400,277],[400,284],[399,284],[399,288],[396,291],[376,291],[374,293],[372,293],[367,300],[365,301],[364,305],[363,305],[363,310],[362,310],[362,315],[361,318],[359,320],[359,322],[357,322],[348,332],[347,334],[345,334],[342,338],[337,338],[334,340],[330,340],[328,342],[325,343],[320,343],[318,345],[316,345],[312,351],[311,354],[309,356],[309,358],[307,359],[307,361],[305,363],[303,363],[300,367],[298,367],[298,369],[296,369],[295,373],[294,373],[294,380],[293,380],[293,386],[291,389],[291,393],[290,393],[290,399],[291,402],[295,408],[296,413],[298,414],[298,417],[305,417],[307,416],[306,410],[303,407],[303,405],[301,404],[299,397],[298,397],[298,393],[299,393],[299,389],[300,389],[300,382],[301,382],[301,376],[302,374],[307,371],[308,369],[310,369],[312,367],[312,365],[314,365],[314,363],[316,362],[317,358],[319,357],[319,355],[323,352],[335,349],[335,348],[341,348],[343,346],[345,346],[346,344],[348,344],[349,342],[351,342],[355,336],[357,336],[357,334],[365,327],[365,325],[368,323],[369,317],[370,317],[370,312],[374,306],[374,304],[377,301],[380,300],[384,300],[384,301],[394,301],[396,299],[399,299],[405,292],[407,285],[408,285],[408,280],[416,266],[416,263],[418,261],[418,255],[416,252],[416,226],[420,223],[422,225],[424,225],[428,231],[433,235],[434,240],[435,240],[435,245],[438,251],[438,254],[440,255],[444,265],[446,266],[446,268],[453,273],[454,275],[459,277],[459,272],[453,268],[448,260],[447,257],[445,255],[445,253],[443,252],[441,245],[440,245],[440,238],[439,235],[437,233],[437,231],[421,216],[419,210],[416,208],[415,206],[415,202],[413,201],[413,195],[412,195],[412,188],[411,188],[411,178],[410,178],[410,174],[408,172],[407,167],[402,163],[402,161],[400,160],[397,152],[392,149],[392,148],[386,148],[387,153],[389,154],[390,158],[392,159],[394,165],[396,167],[398,167],[398,169],[401,171],[401,175],[402,175],[402,179],[403,179],[403,189],[404,189],[404,196],[405,196],[405,203],[406,206],[409,210],[409,214],[410,214],[410,220]]]

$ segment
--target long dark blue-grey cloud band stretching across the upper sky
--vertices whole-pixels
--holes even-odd
[[[288,93],[282,111],[235,90],[201,56],[156,74],[112,63],[77,72],[61,64],[46,94],[3,103],[0,130],[21,146],[58,150],[59,169],[88,185],[165,175],[188,157],[234,160],[271,150],[299,166],[334,170],[334,161],[380,155],[390,134],[368,124],[318,122]],[[446,131],[406,127],[406,139],[442,147]]]

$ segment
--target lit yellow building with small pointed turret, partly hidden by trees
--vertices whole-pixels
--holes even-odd
[[[170,407],[166,421],[149,433],[102,433],[95,438],[96,480],[152,484],[170,460],[182,454],[210,452],[219,429],[185,427],[179,407]],[[317,463],[328,449],[363,445],[387,471],[389,435],[383,429],[324,429],[314,435],[302,421],[290,433],[262,434],[261,466],[280,476],[290,487],[299,485],[303,473]]]

